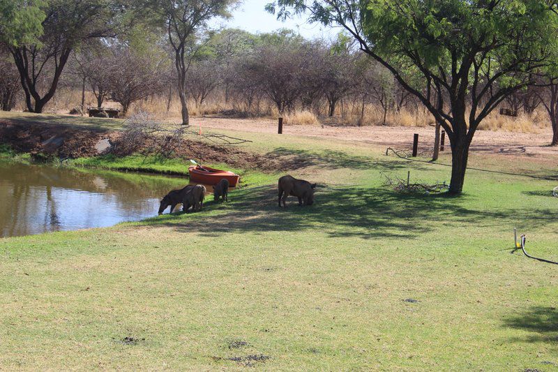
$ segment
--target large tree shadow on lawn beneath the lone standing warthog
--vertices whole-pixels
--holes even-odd
[[[315,204],[299,207],[296,198],[287,199],[287,209],[278,207],[276,188],[264,186],[234,193],[234,204],[227,204],[225,214],[192,218],[185,223],[180,216],[146,221],[164,224],[179,232],[198,232],[208,236],[224,232],[294,232],[322,230],[330,237],[412,238],[447,225],[474,224],[478,228],[502,225],[512,221],[508,209],[485,211],[465,207],[471,197],[451,198],[441,195],[408,195],[386,188],[318,188]],[[213,202],[206,209],[213,209]],[[517,212],[517,211],[515,211]],[[536,216],[534,216],[534,212]],[[524,211],[525,221],[539,225],[555,218],[549,211]],[[528,228],[526,226],[525,228]]]

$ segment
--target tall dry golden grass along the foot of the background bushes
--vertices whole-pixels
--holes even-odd
[[[56,95],[47,104],[45,112],[48,113],[67,113],[74,107],[79,107],[82,100],[80,89],[70,89],[63,87],[56,91]],[[96,99],[91,91],[86,91],[85,105],[95,106]],[[119,107],[119,103],[105,101],[107,107]],[[216,92],[202,105],[195,105],[193,100],[188,101],[188,110],[193,117],[203,116],[207,114],[220,114],[224,110],[232,110],[234,112],[242,111],[241,107],[234,101],[225,103],[223,94]],[[24,103],[20,101],[15,110],[24,110]],[[240,111],[239,111],[240,110]],[[137,112],[150,112],[161,119],[169,119],[180,117],[181,107],[176,92],[173,92],[172,99],[169,102],[167,94],[154,96],[146,100],[138,101],[130,107],[129,114]],[[286,114],[286,125],[319,125],[333,124],[342,126],[381,126],[384,121],[384,112],[382,107],[374,104],[367,104],[362,112],[362,107],[358,102],[340,102],[335,110],[335,116],[326,117],[327,106],[325,104],[315,107],[315,110],[294,110],[291,114]],[[259,105],[259,112],[245,112],[249,117],[272,117],[276,119],[279,113],[275,105],[271,105],[267,101],[262,101]],[[389,110],[386,114],[386,126],[413,126],[425,127],[432,124],[433,118],[430,112],[419,108],[412,110],[404,107],[399,112]],[[534,114],[520,114],[518,117],[506,117],[500,115],[496,110],[486,117],[479,129],[485,131],[508,131],[520,133],[540,133],[544,128],[548,127],[548,117],[543,110],[534,112]]]

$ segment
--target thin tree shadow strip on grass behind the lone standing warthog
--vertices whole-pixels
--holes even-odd
[[[273,151],[270,151],[265,155],[267,158],[285,158],[289,159],[289,167],[284,167],[285,169],[300,169],[306,168],[312,165],[324,165],[328,168],[338,169],[338,168],[351,168],[351,169],[361,169],[361,170],[399,170],[402,168],[409,168],[408,161],[398,161],[390,159],[390,161],[378,161],[370,156],[354,156],[345,154],[343,151],[308,151],[308,150],[296,150],[287,149],[286,147],[279,147]],[[420,165],[418,163],[413,165],[414,169],[427,170],[425,165]]]

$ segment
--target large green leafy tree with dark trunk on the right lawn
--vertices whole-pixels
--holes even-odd
[[[344,27],[427,107],[451,143],[451,194],[462,192],[478,125],[533,83],[531,72],[548,63],[557,44],[555,1],[278,0],[266,8]],[[401,63],[416,67],[427,89],[412,87]]]

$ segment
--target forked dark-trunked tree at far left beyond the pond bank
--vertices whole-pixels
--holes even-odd
[[[24,38],[12,32],[3,34],[2,41],[20,73],[27,109],[43,112],[54,96],[70,53],[86,40],[115,36],[116,20],[123,7],[111,0],[50,0],[31,6],[21,2],[20,12],[30,24],[33,22],[33,27],[28,27]],[[3,23],[5,20],[0,21]]]

